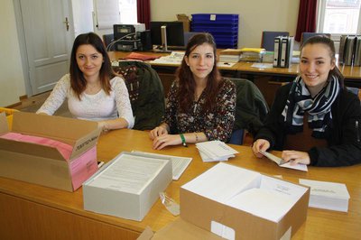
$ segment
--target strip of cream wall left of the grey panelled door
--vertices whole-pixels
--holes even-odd
[[[0,16],[0,106],[9,106],[19,102],[19,97],[25,95],[12,0],[2,1]]]

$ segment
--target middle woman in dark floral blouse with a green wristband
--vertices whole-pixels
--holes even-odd
[[[227,142],[235,111],[236,86],[220,77],[212,35],[196,34],[188,42],[177,70],[163,122],[150,132],[153,148],[215,139]]]

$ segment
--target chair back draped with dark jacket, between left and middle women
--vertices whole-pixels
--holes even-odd
[[[134,129],[150,130],[160,125],[165,111],[161,78],[151,65],[136,60],[119,61],[113,67],[125,78],[135,117]]]

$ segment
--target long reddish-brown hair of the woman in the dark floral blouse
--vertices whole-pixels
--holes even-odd
[[[208,74],[207,87],[204,89],[204,92],[206,93],[206,102],[203,111],[208,111],[216,105],[216,97],[219,87],[222,84],[220,73],[217,68],[217,45],[213,36],[209,33],[199,33],[192,36],[187,44],[185,57],[190,57],[190,52],[204,43],[209,44],[213,48],[214,54],[214,66]],[[181,61],[180,68],[176,71],[176,77],[179,83],[177,97],[180,103],[180,111],[185,113],[189,111],[190,106],[194,101],[196,81],[184,58]]]

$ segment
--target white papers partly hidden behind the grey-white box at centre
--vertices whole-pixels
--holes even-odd
[[[170,159],[173,180],[179,180],[181,174],[187,169],[188,165],[190,165],[190,162],[192,161],[192,158],[186,158],[186,157],[162,155],[162,154],[151,153],[151,152],[140,152],[140,151],[133,151],[133,152],[138,155],[144,156],[144,157]]]

